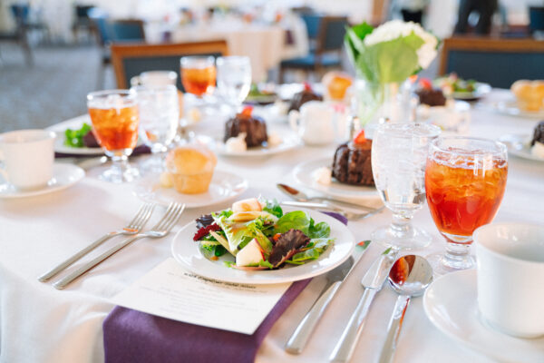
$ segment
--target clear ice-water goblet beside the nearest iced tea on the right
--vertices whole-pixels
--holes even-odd
[[[413,214],[425,202],[425,162],[429,142],[440,128],[424,123],[383,123],[374,132],[372,171],[376,189],[393,221],[372,234],[384,246],[419,249],[431,236],[412,225]]]

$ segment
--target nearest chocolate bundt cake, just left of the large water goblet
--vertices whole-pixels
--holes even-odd
[[[347,184],[374,186],[371,150],[372,140],[345,142],[338,146],[333,161],[333,177]]]

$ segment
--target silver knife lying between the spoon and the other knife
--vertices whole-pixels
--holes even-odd
[[[389,248],[374,261],[364,274],[361,284],[364,287],[363,297],[359,300],[342,336],[336,343],[330,356],[331,362],[347,362],[352,357],[355,346],[364,328],[364,321],[376,293],[384,286],[384,281],[398,254],[398,249]]]

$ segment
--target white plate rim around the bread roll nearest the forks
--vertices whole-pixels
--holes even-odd
[[[177,193],[176,195],[179,195],[180,202],[184,202],[186,204],[185,207],[187,209],[191,209],[191,208],[208,207],[210,205],[215,205],[215,204],[223,203],[225,201],[230,201],[230,200],[233,200],[233,199],[237,198],[244,191],[248,190],[248,184],[249,184],[248,180],[246,178],[238,176],[238,175],[236,175],[236,174],[234,174],[232,172],[225,172],[225,171],[222,171],[222,170],[215,170],[214,173],[213,173],[211,183],[214,183],[214,182],[217,183],[218,179],[220,179],[222,181],[227,180],[227,179],[235,180],[235,181],[238,180],[238,182],[235,182],[236,185],[237,185],[237,188],[235,190],[234,189],[232,190],[232,191],[234,191],[234,193],[231,194],[231,195],[228,195],[228,196],[223,196],[221,198],[210,199],[209,201],[205,201],[205,202],[193,202],[193,203],[183,201],[182,200],[183,194]],[[160,205],[167,206],[168,202],[166,202],[166,201],[162,202],[162,201],[160,201],[160,199],[158,199],[156,197],[152,197],[151,194],[154,194],[155,191],[139,191],[140,188],[146,188],[147,187],[147,186],[142,185],[142,183],[150,183],[150,182],[154,182],[157,185],[159,185],[159,183],[160,183],[159,174],[153,173],[151,175],[148,175],[148,176],[142,178],[139,181],[136,181],[135,184],[134,184],[134,190],[132,191],[133,194],[136,195],[138,198],[140,198],[141,201],[151,201],[151,202],[155,202],[155,203],[160,204]],[[194,196],[198,196],[198,194],[192,194],[191,195],[191,197],[194,197]]]

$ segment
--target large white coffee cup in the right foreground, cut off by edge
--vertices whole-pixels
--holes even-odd
[[[482,318],[514,337],[544,335],[544,226],[493,223],[473,238]]]

